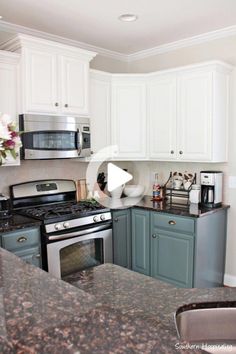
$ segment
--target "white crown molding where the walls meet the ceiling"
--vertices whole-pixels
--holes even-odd
[[[203,33],[197,36],[181,39],[175,42],[163,44],[156,46],[154,48],[150,49],[145,49],[141,50],[139,52],[135,52],[133,54],[123,54],[119,53],[116,51],[108,50],[105,48],[97,47],[94,45],[90,45],[84,42],[79,42],[73,39],[57,36],[54,34],[50,34],[47,32],[43,31],[38,31],[29,27],[21,26],[21,25],[16,25],[13,23],[5,22],[5,21],[0,21],[0,30],[6,31],[9,33],[23,33],[23,34],[29,34],[31,36],[35,37],[40,37],[43,39],[48,39],[56,42],[60,42],[63,44],[67,45],[72,45],[78,48],[86,49],[86,50],[91,50],[95,51],[98,54],[108,57],[108,58],[113,58],[116,60],[124,61],[124,62],[132,62],[140,59],[144,59],[150,56],[154,56],[157,54],[163,54],[167,53],[173,50],[193,46],[196,44],[201,44],[204,42],[212,41],[215,39],[220,39],[220,38],[225,38],[228,36],[234,36],[236,35],[236,25],[230,26],[230,27],[225,27],[222,29],[218,29],[215,31]]]

